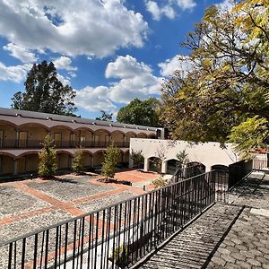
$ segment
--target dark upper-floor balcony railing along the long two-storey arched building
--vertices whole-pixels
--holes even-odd
[[[0,149],[40,149],[43,147],[44,140],[16,140],[16,139],[4,139],[0,143]],[[61,140],[55,141],[56,148],[76,148],[82,146],[84,148],[106,148],[112,142],[94,142],[94,141],[69,141]],[[129,142],[114,142],[117,147],[128,148]]]

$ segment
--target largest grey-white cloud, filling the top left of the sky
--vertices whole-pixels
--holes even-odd
[[[0,1],[0,35],[26,49],[102,57],[143,47],[147,31],[121,0]]]

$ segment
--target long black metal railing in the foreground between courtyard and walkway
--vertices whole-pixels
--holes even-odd
[[[223,177],[222,171],[204,173],[0,242],[0,268],[125,268],[133,265],[206,207],[222,199],[226,192]]]

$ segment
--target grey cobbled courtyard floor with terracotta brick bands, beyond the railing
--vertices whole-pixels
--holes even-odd
[[[116,174],[119,180],[131,181],[133,187],[101,183],[97,181],[100,177],[91,175],[0,183],[0,241],[141,195],[143,186],[152,188],[152,179],[157,177],[136,170]]]

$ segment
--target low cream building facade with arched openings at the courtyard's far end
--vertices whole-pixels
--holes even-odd
[[[159,160],[162,173],[173,174],[177,169],[177,154],[187,153],[187,165],[200,164],[205,171],[212,169],[228,169],[230,164],[240,161],[239,155],[233,150],[231,143],[226,143],[225,148],[220,143],[187,143],[187,141],[155,140],[132,138],[130,151],[142,152],[145,171],[154,170],[153,163]],[[130,160],[130,167],[133,161]]]

